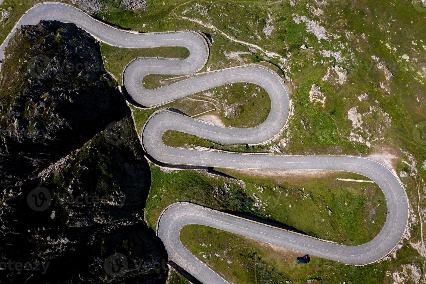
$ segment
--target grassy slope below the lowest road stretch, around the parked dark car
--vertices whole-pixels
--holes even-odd
[[[388,271],[402,271],[402,264],[423,265],[423,258],[406,241],[396,259],[356,267],[313,255],[308,264],[296,264],[296,257],[302,255],[299,252],[206,226],[185,226],[180,238],[193,255],[232,283],[392,283]]]

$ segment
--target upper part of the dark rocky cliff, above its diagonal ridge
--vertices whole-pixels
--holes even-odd
[[[103,70],[98,44],[76,26],[24,27],[7,51],[0,81],[0,185],[80,148],[126,109]]]

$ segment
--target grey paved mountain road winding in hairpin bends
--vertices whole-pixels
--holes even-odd
[[[179,240],[179,232],[188,224],[199,224],[232,232],[254,240],[275,244],[302,253],[340,261],[345,264],[368,264],[386,256],[402,238],[409,217],[408,199],[399,179],[388,168],[371,159],[357,156],[299,156],[232,154],[172,148],[164,145],[162,135],[167,130],[194,134],[223,145],[259,144],[275,136],[288,118],[289,97],[282,79],[272,70],[249,64],[225,70],[205,72],[160,87],[147,90],[142,78],[148,74],[184,75],[195,73],[204,66],[209,46],[199,32],[137,33],[115,29],[80,10],[59,3],[42,3],[34,6],[21,18],[21,25],[37,24],[40,20],[59,20],[75,23],[99,41],[127,48],[159,46],[184,46],[190,51],[186,59],[137,58],[123,73],[123,83],[128,95],[136,103],[153,107],[167,101],[203,90],[247,82],[264,88],[271,98],[271,111],[262,124],[254,128],[225,128],[211,125],[170,110],[155,112],[144,125],[142,146],[159,162],[177,165],[196,165],[237,169],[328,170],[362,174],[373,180],[386,197],[388,214],[381,232],[370,242],[360,246],[343,246],[311,238],[276,227],[256,223],[223,212],[190,203],[175,203],[167,207],[158,219],[157,234],[164,243],[171,260],[183,267],[203,283],[224,283],[220,275],[199,261]],[[0,46],[0,60],[10,38]],[[7,60],[7,59],[6,59]],[[1,65],[0,65],[1,68]]]

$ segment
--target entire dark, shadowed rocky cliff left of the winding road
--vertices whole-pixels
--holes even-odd
[[[163,283],[150,169],[95,40],[19,30],[0,79],[0,252],[10,283]]]

